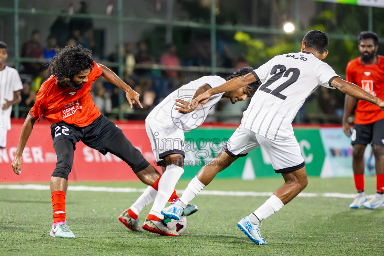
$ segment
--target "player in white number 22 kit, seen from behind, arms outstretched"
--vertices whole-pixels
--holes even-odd
[[[301,52],[275,56],[252,73],[210,89],[191,101],[190,105],[195,106],[217,93],[255,81],[262,83],[244,112],[241,125],[228,140],[225,150],[214,159],[226,165],[205,165],[189,183],[180,200],[162,210],[164,216],[177,220],[179,209],[185,208],[218,172],[238,157],[261,146],[268,153],[275,172],[283,175],[285,183],[255,212],[240,220],[237,226],[254,243],[266,244],[260,236],[260,222],[280,210],[308,183],[304,159],[291,125],[305,99],[319,86],[325,86],[337,88],[384,110],[383,101],[339,78],[328,64],[321,61],[328,54],[327,47],[328,36],[319,30],[312,30],[304,36]]]

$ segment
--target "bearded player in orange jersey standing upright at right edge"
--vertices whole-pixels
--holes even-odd
[[[346,69],[348,82],[357,84],[373,96],[384,98],[384,56],[377,55],[378,37],[371,31],[359,35],[360,57],[349,61]],[[343,129],[351,136],[353,145],[352,168],[358,192],[349,208],[377,209],[384,206],[384,112],[367,101],[358,101],[355,121],[351,132],[347,118],[350,116],[355,99],[345,96]],[[376,160],[377,193],[367,201],[364,194],[364,150],[372,142]]]

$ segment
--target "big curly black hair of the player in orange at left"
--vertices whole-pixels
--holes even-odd
[[[74,78],[80,71],[93,69],[92,51],[81,45],[68,45],[56,51],[48,71],[51,72],[58,81],[65,78]]]

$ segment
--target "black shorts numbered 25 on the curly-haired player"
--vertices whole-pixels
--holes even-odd
[[[92,149],[97,149],[103,155],[108,153],[106,145],[111,142],[122,130],[104,115],[100,115],[91,124],[85,127],[77,127],[73,124],[58,122],[51,124],[51,136],[53,145],[61,139],[70,139],[73,143],[73,150],[80,140]]]

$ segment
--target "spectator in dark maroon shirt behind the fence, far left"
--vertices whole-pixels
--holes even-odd
[[[22,47],[23,58],[44,58],[43,46],[40,44],[40,33],[38,30],[33,30],[31,39],[26,41]],[[43,68],[40,63],[22,63],[26,73],[33,76],[38,76],[38,72]]]

